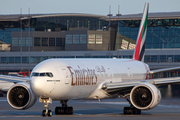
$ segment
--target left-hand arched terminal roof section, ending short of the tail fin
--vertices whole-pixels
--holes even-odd
[[[62,17],[62,16],[80,16],[80,17],[97,17],[104,18],[103,15],[83,14],[83,13],[54,13],[54,14],[14,14],[14,15],[0,15],[0,21],[19,21],[20,19],[42,18],[42,17]]]

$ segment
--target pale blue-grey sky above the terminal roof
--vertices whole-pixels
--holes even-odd
[[[0,14],[46,13],[87,13],[115,16],[120,6],[120,14],[142,13],[145,2],[149,2],[149,13],[180,12],[180,0],[0,0]]]

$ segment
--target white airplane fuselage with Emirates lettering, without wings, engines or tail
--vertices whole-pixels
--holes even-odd
[[[103,99],[108,97],[101,89],[104,83],[144,80],[148,70],[143,62],[131,59],[49,59],[33,69],[30,84],[41,98]]]

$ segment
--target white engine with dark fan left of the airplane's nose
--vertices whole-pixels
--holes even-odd
[[[34,105],[37,98],[30,89],[30,85],[21,82],[13,85],[7,93],[8,103],[15,109],[27,109]]]

